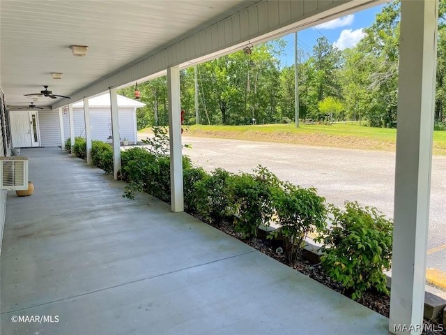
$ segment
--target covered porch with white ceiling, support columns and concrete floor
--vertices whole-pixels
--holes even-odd
[[[117,179],[121,166],[117,89],[166,74],[171,150],[171,207],[144,200],[150,203],[150,211],[144,202],[125,202],[118,182],[112,183],[100,172],[81,166],[81,162],[74,163],[74,158],[45,149],[26,153],[31,159],[31,179],[36,184],[40,180],[42,188],[36,191],[43,196],[7,199],[6,191],[0,191],[1,226],[8,212],[1,251],[2,334],[14,329],[17,334],[26,334],[34,330],[29,327],[53,326],[60,328],[48,329],[48,334],[87,334],[86,325],[93,334],[102,334],[102,327],[110,327],[106,334],[146,334],[147,329],[171,334],[186,334],[187,330],[226,333],[224,327],[245,333],[247,328],[243,327],[247,325],[250,331],[257,327],[259,334],[290,333],[294,329],[291,326],[296,325],[300,329],[318,327],[308,328],[311,334],[385,334],[387,329],[395,334],[420,334],[438,0],[401,1],[389,322],[307,278],[291,275],[290,269],[182,213],[180,70],[383,2],[1,0],[1,155],[9,156],[11,149],[7,109],[28,105],[25,94],[36,92],[33,95],[44,100],[44,107],[59,112],[59,116],[62,108],[68,107],[72,143],[72,104],[84,101],[87,163],[91,164],[89,98],[108,91]],[[76,54],[79,46],[84,46],[84,51],[89,47],[89,54],[73,58],[71,52]],[[68,80],[51,80],[49,90],[43,89],[52,73],[65,73]],[[74,164],[64,165],[67,160]],[[75,165],[82,169],[77,170]],[[92,174],[98,175],[90,179]],[[93,181],[96,177],[98,185]],[[89,180],[91,184],[86,182]],[[63,186],[68,190],[65,195],[55,188],[64,181],[72,183]],[[75,188],[77,184],[82,188]],[[109,194],[105,188],[116,194]],[[11,214],[14,208],[16,214]],[[174,234],[177,230],[178,235]],[[153,248],[148,241],[153,241]],[[263,266],[254,266],[260,259]],[[265,266],[268,263],[270,266]],[[215,277],[209,274],[212,279],[205,281],[208,273],[201,271],[213,267]],[[222,271],[226,267],[228,270]],[[279,281],[289,276],[286,284]],[[143,304],[135,304],[137,297],[144,297],[141,292],[146,292],[145,285],[148,291],[157,292],[157,299],[145,297]],[[130,286],[134,290],[129,292]],[[272,290],[277,290],[275,304],[266,298]],[[206,300],[201,299],[203,291],[207,292]],[[229,292],[232,296],[226,297]],[[257,301],[250,309],[254,312],[244,314],[243,307],[253,300]],[[270,305],[275,308],[268,313],[266,306]],[[66,306],[66,315],[74,317],[38,326],[10,321],[14,313],[54,314],[63,311],[61,306]],[[348,313],[341,313],[341,309]],[[134,318],[121,316],[130,310],[134,310]],[[93,311],[102,314],[95,318]],[[297,322],[299,313],[307,318]],[[259,316],[259,323],[254,322],[254,314]],[[229,320],[231,324],[226,323]],[[387,327],[383,327],[385,323]],[[141,324],[146,330],[139,328]],[[187,329],[197,325],[199,328]],[[354,330],[350,333],[351,328],[342,328],[346,325]]]

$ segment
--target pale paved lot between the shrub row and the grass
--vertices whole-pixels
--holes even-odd
[[[327,202],[356,200],[393,217],[394,152],[183,137],[184,154],[206,170],[250,172],[263,165],[282,180],[314,186]],[[446,271],[446,157],[434,156],[427,267]]]

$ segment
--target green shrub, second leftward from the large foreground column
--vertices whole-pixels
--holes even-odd
[[[311,232],[321,234],[327,226],[325,198],[316,193],[316,188],[300,188],[286,183],[272,195],[275,221],[284,237],[284,249],[289,261],[294,263],[305,246],[305,238]],[[272,232],[277,237],[279,232]]]

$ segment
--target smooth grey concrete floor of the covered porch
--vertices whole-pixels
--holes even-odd
[[[36,189],[8,194],[1,335],[387,334],[382,315],[150,195],[122,198],[79,158],[22,156]]]

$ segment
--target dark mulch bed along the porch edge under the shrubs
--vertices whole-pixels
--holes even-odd
[[[332,281],[332,279],[327,274],[325,274],[325,271],[320,264],[315,265],[312,262],[309,262],[308,260],[305,259],[300,259],[297,262],[295,262],[295,264],[291,264],[283,254],[279,254],[276,252],[276,249],[272,247],[270,240],[265,241],[263,239],[258,239],[258,238],[243,239],[242,234],[233,231],[232,225],[229,222],[215,224],[215,223],[209,223],[202,217],[198,218],[199,220],[207,222],[208,224],[212,225],[218,230],[221,230],[222,232],[225,232],[226,234],[229,234],[232,237],[235,237],[236,239],[243,241],[245,244],[252,246],[252,248],[261,251],[261,253],[264,253],[270,256],[271,258],[278,260],[279,262],[282,262],[284,265],[288,265],[289,267],[296,269],[300,273],[305,274],[305,276],[309,276],[309,278],[318,281],[319,283],[327,286],[328,288],[331,288],[332,290],[335,290],[336,292],[339,292],[342,295],[345,295],[346,297],[349,298],[351,297],[351,294],[345,292],[342,285],[340,285],[335,281]],[[382,295],[378,292],[373,292],[370,290],[364,292],[362,294],[362,297],[358,299],[357,302],[362,304],[363,306],[366,306],[376,311],[377,313],[380,313],[381,315],[384,315],[386,318],[389,318],[390,297],[388,297],[387,295]],[[424,335],[446,335],[446,329],[444,329],[443,325],[439,325],[436,322],[430,322],[429,320],[424,320],[424,327],[425,327],[424,329],[428,329],[422,333]],[[432,332],[429,329],[443,329],[443,331],[438,330],[436,332]]]

